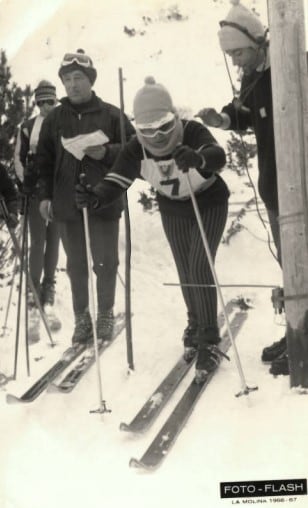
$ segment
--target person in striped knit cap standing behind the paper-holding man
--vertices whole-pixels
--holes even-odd
[[[58,263],[60,233],[56,222],[44,221],[39,212],[38,170],[36,152],[44,118],[56,106],[56,88],[47,80],[39,82],[34,90],[39,114],[26,120],[20,127],[15,145],[15,172],[22,193],[29,203],[30,254],[29,271],[34,288],[40,297],[51,331],[57,331],[61,322],[54,312],[55,272]],[[40,312],[31,292],[28,296],[29,341],[40,338]]]

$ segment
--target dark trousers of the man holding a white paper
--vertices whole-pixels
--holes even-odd
[[[67,273],[71,282],[75,314],[87,309],[88,265],[83,218],[62,222],[61,239],[67,256]],[[97,306],[99,311],[113,307],[119,265],[119,220],[102,220],[89,216],[90,245],[93,270],[96,274]]]

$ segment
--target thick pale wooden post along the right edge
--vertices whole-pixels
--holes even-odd
[[[291,387],[308,388],[308,79],[304,2],[269,0],[280,234]]]

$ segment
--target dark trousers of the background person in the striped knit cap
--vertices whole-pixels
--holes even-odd
[[[49,222],[46,226],[39,211],[39,200],[35,196],[29,201],[29,231],[29,268],[34,287],[39,291],[42,273],[46,282],[54,282],[60,230],[56,222]]]

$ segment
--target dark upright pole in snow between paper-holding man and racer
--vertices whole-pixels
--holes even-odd
[[[126,142],[125,124],[124,124],[124,93],[123,93],[123,73],[119,68],[119,89],[120,89],[120,129],[121,129],[121,147]],[[131,321],[131,231],[127,193],[124,195],[124,221],[125,221],[125,327],[126,327],[126,348],[127,363],[129,371],[134,370],[133,358],[133,340],[132,340],[132,321]]]

